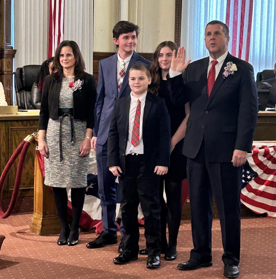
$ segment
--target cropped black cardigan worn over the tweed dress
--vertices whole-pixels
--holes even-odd
[[[94,127],[94,107],[96,102],[96,83],[93,75],[75,76],[75,80],[83,80],[81,90],[73,93],[73,118],[86,120],[86,128]],[[62,80],[56,81],[47,75],[42,92],[39,130],[47,130],[49,118],[58,119],[58,107]]]

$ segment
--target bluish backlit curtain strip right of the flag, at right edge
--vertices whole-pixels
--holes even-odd
[[[274,69],[276,62],[276,2],[254,0],[249,63],[255,75]]]

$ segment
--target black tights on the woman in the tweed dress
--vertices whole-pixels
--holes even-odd
[[[72,225],[71,230],[68,225],[67,220],[67,203],[68,196],[66,188],[53,187],[53,195],[55,199],[55,205],[57,207],[57,213],[60,218],[61,231],[60,231],[60,240],[78,239],[78,229],[80,225],[81,212],[83,210],[83,203],[85,197],[85,188],[71,188],[71,203],[72,203]]]

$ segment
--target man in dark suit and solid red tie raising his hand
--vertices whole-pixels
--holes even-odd
[[[210,56],[185,63],[185,50],[173,55],[170,87],[175,102],[190,102],[183,146],[188,157],[194,248],[180,270],[212,266],[212,194],[221,223],[224,276],[239,276],[242,164],[251,152],[257,120],[253,67],[228,51],[229,29],[220,21],[205,28]],[[183,78],[181,77],[182,71]]]

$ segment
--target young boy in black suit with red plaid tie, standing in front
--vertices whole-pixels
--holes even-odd
[[[164,99],[147,93],[150,71],[129,70],[131,94],[116,100],[108,134],[107,166],[122,186],[124,253],[116,264],[136,260],[139,252],[138,205],[145,217],[147,268],[160,267],[159,175],[170,163],[170,117]]]

